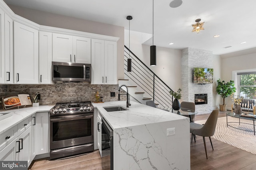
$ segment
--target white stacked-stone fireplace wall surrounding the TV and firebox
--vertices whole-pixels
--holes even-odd
[[[207,103],[196,104],[196,111],[198,114],[211,113],[214,109],[212,106],[212,84],[194,84],[193,69],[194,67],[213,68],[212,51],[186,48],[182,50],[181,61],[181,100],[195,102],[195,94],[207,94]]]

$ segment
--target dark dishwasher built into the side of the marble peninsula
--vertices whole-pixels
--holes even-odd
[[[106,120],[102,118],[102,170],[113,170],[113,130],[108,125]]]

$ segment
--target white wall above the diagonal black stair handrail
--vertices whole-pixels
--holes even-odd
[[[156,47],[156,66],[150,66],[150,46],[143,45],[151,34],[130,31],[130,50],[172,90],[181,88],[181,50]],[[129,30],[124,30],[124,44],[129,48]]]

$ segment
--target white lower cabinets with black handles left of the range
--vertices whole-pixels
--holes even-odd
[[[28,161],[31,164],[38,154],[49,152],[49,113],[39,112],[28,117],[18,125],[2,133],[0,141],[4,147],[0,151],[0,160]],[[17,132],[18,129],[18,132]],[[17,135],[18,134],[18,135]],[[12,139],[13,137],[15,139]],[[17,137],[18,136],[18,137]]]

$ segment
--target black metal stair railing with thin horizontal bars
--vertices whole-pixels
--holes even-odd
[[[171,110],[173,96],[172,90],[164,81],[162,81],[146,64],[144,64],[130,49],[124,46],[124,74],[137,84],[158,107]],[[127,72],[127,59],[132,59],[132,72]]]

